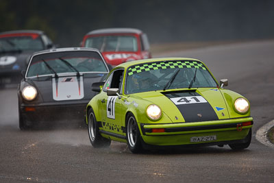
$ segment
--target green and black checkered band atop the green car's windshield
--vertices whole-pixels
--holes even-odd
[[[134,73],[141,73],[143,71],[174,68],[197,68],[206,70],[206,67],[201,62],[196,61],[152,62],[148,64],[139,64],[131,66],[128,69],[127,75],[133,75]]]

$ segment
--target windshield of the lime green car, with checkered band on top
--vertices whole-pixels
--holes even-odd
[[[213,88],[216,86],[212,75],[201,62],[175,60],[129,67],[125,93],[189,87]]]

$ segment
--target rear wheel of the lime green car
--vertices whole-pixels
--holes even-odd
[[[91,145],[95,148],[110,146],[110,139],[103,138],[101,134],[99,134],[99,127],[92,109],[88,111],[88,136]]]

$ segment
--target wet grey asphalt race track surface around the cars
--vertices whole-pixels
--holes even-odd
[[[203,147],[131,154],[127,145],[94,149],[86,129],[18,129],[15,88],[0,90],[0,182],[274,182],[274,148],[255,134],[274,119],[274,40],[176,51],[205,62],[217,80],[245,95],[254,118],[248,149]],[[155,57],[155,56],[154,56]]]

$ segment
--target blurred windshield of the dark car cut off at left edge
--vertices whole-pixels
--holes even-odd
[[[40,51],[44,48],[38,34],[27,36],[0,36],[0,51]]]

